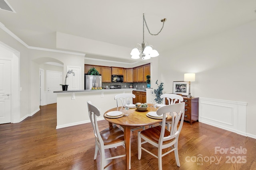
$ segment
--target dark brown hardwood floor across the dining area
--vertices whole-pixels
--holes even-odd
[[[0,125],[0,170],[97,170],[100,156],[93,160],[95,139],[90,123],[56,128],[56,104],[42,106],[20,123]],[[84,111],[84,114],[88,114]],[[99,129],[108,127],[99,121]],[[151,150],[157,150],[152,146]],[[158,169],[156,158],[142,150],[138,160],[137,131],[131,132],[132,170]],[[226,149],[226,152],[225,152]],[[106,155],[124,153],[123,147],[108,149]],[[163,157],[163,170],[255,170],[256,139],[196,122],[184,123],[179,137],[180,167],[174,153]],[[201,159],[202,158],[202,159]],[[201,160],[201,161],[200,161]],[[107,161],[106,170],[123,170],[125,158]]]

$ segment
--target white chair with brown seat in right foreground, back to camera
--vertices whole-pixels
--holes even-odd
[[[176,116],[174,115],[176,112]],[[138,132],[138,159],[141,159],[142,150],[148,152],[154,157],[158,158],[158,169],[162,170],[162,157],[166,154],[174,151],[176,164],[180,167],[180,161],[178,156],[178,137],[180,135],[180,131],[182,129],[183,121],[184,121],[184,112],[185,112],[185,103],[177,103],[172,105],[166,105],[160,107],[156,113],[157,115],[163,115],[163,125],[166,121],[166,114],[170,114],[172,117],[172,128],[171,131],[168,131],[165,126],[156,126],[148,128],[144,131]],[[180,121],[181,118],[181,121]],[[180,122],[180,124],[179,124]],[[179,124],[179,125],[178,125]],[[144,141],[142,142],[142,139]],[[151,145],[158,148],[158,155],[153,154],[149,150],[142,147],[142,144],[150,143]],[[151,148],[151,147],[150,147]],[[162,153],[163,149],[171,148],[167,152]]]

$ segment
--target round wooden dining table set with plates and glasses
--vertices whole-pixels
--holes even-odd
[[[156,123],[162,122],[161,119],[153,119],[148,117],[146,114],[150,111],[156,111],[158,108],[154,108],[152,104],[148,104],[148,108],[146,111],[138,111],[136,108],[130,108],[127,113],[128,116],[122,116],[119,118],[108,118],[106,114],[110,111],[121,111],[123,114],[126,114],[126,110],[124,107],[115,107],[109,109],[104,113],[104,118],[109,122],[109,126],[112,124],[120,125],[124,128],[124,142],[125,142],[125,150],[126,150],[126,169],[129,169],[129,158],[130,158],[130,130],[133,127],[140,127],[140,126],[148,126],[154,125]],[[107,117],[106,117],[107,116]],[[170,115],[168,115],[167,119],[171,119]]]

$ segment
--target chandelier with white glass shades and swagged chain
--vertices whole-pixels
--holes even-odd
[[[132,59],[140,59],[140,56],[142,57],[142,60],[148,60],[151,57],[157,57],[159,55],[159,53],[156,50],[152,49],[152,45],[148,45],[148,43],[144,43],[144,22],[146,24],[146,27],[148,29],[148,32],[150,33],[150,35],[158,35],[163,27],[164,27],[164,22],[166,21],[166,18],[162,19],[161,22],[163,23],[162,28],[160,29],[160,31],[157,34],[152,34],[150,33],[149,29],[148,29],[148,25],[146,23],[144,14],[143,14],[143,42],[142,44],[138,44],[138,47],[132,49],[132,52],[130,55],[132,55]]]

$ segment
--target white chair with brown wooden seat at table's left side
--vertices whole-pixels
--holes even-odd
[[[94,136],[95,136],[94,160],[96,160],[97,153],[99,151],[100,155],[101,155],[100,170],[104,170],[105,160],[110,160],[110,159],[115,159],[115,158],[120,158],[120,157],[126,156],[126,154],[122,154],[122,155],[118,155],[118,156],[105,158],[105,149],[116,148],[118,146],[123,146],[125,148],[124,132],[116,126],[111,126],[111,127],[104,129],[103,131],[99,131],[97,117],[100,116],[100,111],[97,107],[92,105],[91,101],[87,101],[87,106],[88,106],[89,117],[90,117],[90,121],[92,123],[93,132],[94,132]],[[129,158],[129,169],[131,168],[130,160],[131,160],[131,158]]]

